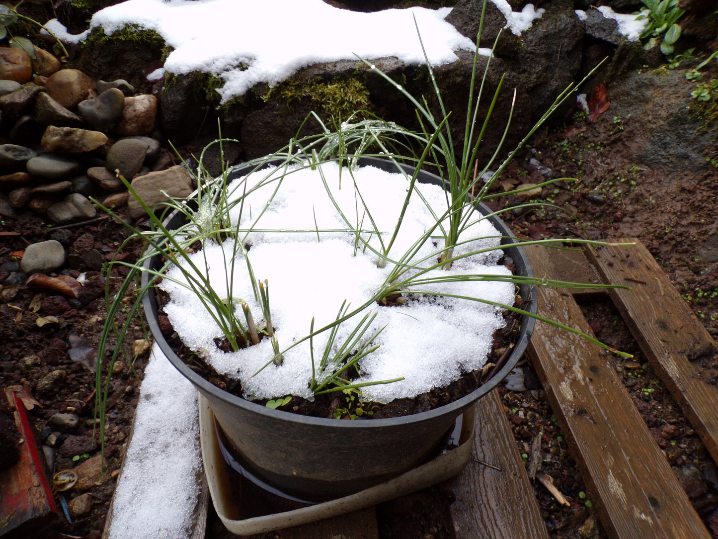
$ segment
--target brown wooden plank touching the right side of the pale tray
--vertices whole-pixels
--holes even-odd
[[[472,459],[446,483],[456,498],[449,510],[457,538],[548,539],[496,390],[479,400],[476,418]]]

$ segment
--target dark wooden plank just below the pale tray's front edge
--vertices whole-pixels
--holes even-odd
[[[327,518],[312,524],[279,530],[281,539],[378,539],[376,509],[366,509]]]

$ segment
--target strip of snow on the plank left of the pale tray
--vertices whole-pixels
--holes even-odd
[[[144,371],[107,539],[189,539],[202,474],[197,390],[156,344]]]

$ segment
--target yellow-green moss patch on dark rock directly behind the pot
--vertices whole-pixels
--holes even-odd
[[[356,111],[370,111],[369,91],[360,80],[348,78],[327,82],[322,78],[307,81],[286,80],[264,93],[264,101],[283,101],[292,108],[302,99],[309,99],[322,120],[347,119]]]

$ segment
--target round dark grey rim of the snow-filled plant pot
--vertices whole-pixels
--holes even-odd
[[[268,162],[268,164],[271,164],[271,162]],[[396,170],[396,165],[394,165],[393,162],[391,162],[390,160],[381,159],[379,157],[360,157],[360,159],[358,160],[358,165],[374,166],[381,168],[382,170],[386,170],[387,172],[393,172],[394,170]],[[414,167],[411,167],[410,165],[399,166],[406,170],[406,172],[409,172],[409,174],[414,172]],[[246,175],[247,172],[249,172],[255,167],[256,165],[253,165],[251,163],[238,165],[237,167],[234,167],[232,170],[230,170],[230,176],[239,177],[241,175]],[[433,174],[432,172],[421,170],[419,172],[419,175],[421,176],[421,180],[424,180],[422,183],[434,183],[436,185],[444,184],[444,180],[442,180],[442,178],[439,178],[439,176]],[[477,207],[484,215],[486,215],[487,213],[492,213],[488,206],[485,206],[485,204],[483,203],[478,203]],[[169,222],[173,218],[178,218],[178,216],[178,212],[174,211],[167,217],[165,223]],[[516,241],[516,236],[513,235],[513,232],[510,231],[508,226],[500,218],[498,218],[498,216],[490,216],[488,219],[491,224],[493,224],[493,226],[495,226],[496,229],[498,229],[498,231],[502,234],[502,244],[513,243],[514,241]],[[523,253],[521,247],[510,247],[508,250],[511,251],[513,254],[511,258],[513,259],[514,264],[516,264],[517,272],[519,272],[519,265],[521,265],[521,267],[523,267],[523,271],[521,272],[521,274],[528,277],[533,277],[531,262],[529,262],[528,258],[526,257],[526,254]],[[157,265],[157,257],[147,259],[144,262],[143,267],[149,268],[153,265]],[[141,286],[144,288],[147,282],[149,282],[149,273],[142,272]],[[526,310],[528,310],[528,312],[530,313],[536,314],[536,287],[522,285],[521,295],[523,298],[525,298],[525,302],[528,302],[528,308]],[[493,390],[495,387],[497,387],[498,384],[503,381],[503,379],[511,372],[511,370],[516,367],[518,360],[521,359],[521,356],[523,356],[523,352],[528,346],[528,341],[531,339],[531,333],[533,333],[533,327],[536,324],[535,318],[531,318],[526,315],[521,316],[521,328],[519,329],[518,340],[514,344],[513,351],[511,352],[504,366],[498,372],[496,372],[493,377],[488,379],[486,382],[484,382],[484,384],[482,384],[480,387],[477,387],[476,390],[470,392],[468,395],[465,395],[460,399],[454,400],[453,402],[449,402],[449,404],[447,405],[439,406],[437,408],[434,408],[433,410],[427,410],[426,412],[420,412],[411,415],[402,415],[396,418],[346,421],[337,420],[334,418],[316,418],[309,415],[301,415],[292,412],[286,412],[284,410],[276,410],[253,402],[251,400],[237,397],[236,395],[233,395],[225,390],[221,390],[219,387],[215,386],[211,382],[208,382],[208,380],[204,379],[195,371],[190,369],[190,367],[187,367],[185,362],[182,361],[182,359],[180,359],[180,357],[177,356],[177,354],[175,354],[172,348],[169,346],[169,343],[162,335],[162,331],[160,331],[159,329],[159,309],[157,306],[157,299],[154,289],[150,289],[144,295],[144,298],[142,298],[142,306],[146,313],[147,324],[150,328],[152,336],[159,345],[159,348],[162,350],[164,356],[166,356],[167,359],[169,359],[169,361],[172,363],[172,365],[174,365],[174,367],[178,371],[180,371],[182,375],[185,376],[185,378],[189,379],[190,382],[192,382],[192,384],[194,384],[195,387],[197,387],[197,389],[201,392],[207,395],[211,395],[215,399],[223,400],[230,405],[242,407],[252,413],[264,415],[269,418],[289,420],[297,423],[303,423],[305,425],[317,425],[332,428],[349,429],[386,428],[395,425],[408,425],[411,423],[419,423],[424,420],[430,420],[432,418],[436,418],[441,415],[446,415],[450,413],[458,415],[462,412],[462,410],[465,410],[465,408],[469,407],[473,402],[480,399],[488,392]]]

